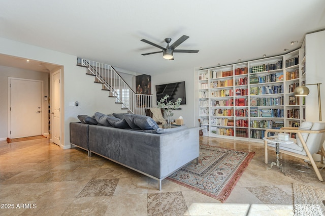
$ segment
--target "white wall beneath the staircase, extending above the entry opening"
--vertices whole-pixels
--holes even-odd
[[[62,94],[62,134],[61,148],[70,148],[69,123],[77,121],[78,114],[91,115],[95,111],[103,113],[121,111],[114,99],[106,97],[101,91],[100,84],[89,81],[91,77],[85,75],[85,68],[76,66],[77,56],[56,52],[18,41],[0,38],[0,53],[62,66],[63,94]],[[93,77],[92,77],[93,78]],[[98,94],[93,94],[94,90]],[[104,95],[104,97],[103,97]],[[105,98],[103,100],[103,98]],[[107,98],[107,100],[106,100]],[[79,106],[69,106],[69,102],[79,102]],[[106,108],[107,107],[107,108]],[[7,129],[6,129],[7,130]]]

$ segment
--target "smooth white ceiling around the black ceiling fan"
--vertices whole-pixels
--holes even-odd
[[[325,28],[324,0],[0,3],[0,37],[149,75],[283,54],[299,48],[306,33]],[[175,53],[173,61],[162,53],[141,55],[160,51],[141,39],[166,47],[166,37],[173,43],[183,34],[189,38],[177,49],[199,53]]]

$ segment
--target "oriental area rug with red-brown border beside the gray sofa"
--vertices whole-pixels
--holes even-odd
[[[200,145],[199,163],[189,163],[167,179],[225,202],[254,155]]]

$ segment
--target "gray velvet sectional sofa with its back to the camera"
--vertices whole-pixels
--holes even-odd
[[[125,121],[127,117],[130,116],[119,120]],[[151,124],[151,118],[145,117]],[[106,118],[108,121],[109,117]],[[138,116],[130,118],[133,119],[133,127],[137,127]],[[162,180],[199,157],[199,127],[161,129],[153,125],[156,129],[135,129],[102,125],[103,119],[101,123],[94,123],[71,122],[71,144],[88,151],[88,156],[98,154],[157,180],[159,190]]]

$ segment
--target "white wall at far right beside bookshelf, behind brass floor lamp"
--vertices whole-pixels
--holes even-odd
[[[320,98],[322,120],[325,120],[325,30],[306,34],[306,84],[321,83]],[[318,121],[317,85],[307,85],[310,93],[306,96],[306,121]]]

